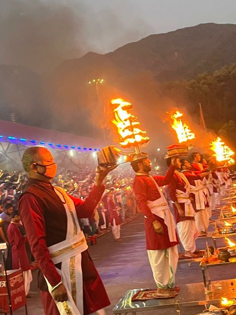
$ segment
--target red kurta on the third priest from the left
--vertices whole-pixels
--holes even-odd
[[[186,189],[184,188],[185,186],[185,182],[182,179],[182,177],[180,175],[178,175],[176,172],[174,173],[173,179],[171,180],[171,182],[168,185],[168,193],[170,196],[170,199],[175,202],[178,201],[177,197],[176,197],[176,189],[179,189],[183,192],[186,191]],[[185,209],[185,205],[184,203],[180,203],[181,208],[184,210]],[[185,220],[194,220],[194,217],[189,217],[189,216],[184,216],[183,218],[179,216],[179,212],[177,210],[177,207],[175,204],[173,204],[173,209],[174,209],[174,214],[175,214],[175,221],[176,224],[179,223],[180,221],[185,221]]]

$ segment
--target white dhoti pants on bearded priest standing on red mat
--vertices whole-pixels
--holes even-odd
[[[177,245],[166,249],[148,249],[147,255],[157,288],[173,288],[179,260]]]

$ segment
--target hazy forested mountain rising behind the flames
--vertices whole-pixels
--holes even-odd
[[[199,123],[201,102],[207,127],[235,141],[235,51],[235,24],[206,23],[65,60],[43,77],[2,65],[0,117],[16,112],[19,123],[104,137],[111,130],[109,101],[122,97],[133,103],[148,134],[164,144],[172,137],[165,112],[183,108]],[[104,83],[88,85],[94,78]]]

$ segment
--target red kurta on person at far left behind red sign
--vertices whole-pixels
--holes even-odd
[[[21,235],[17,224],[10,223],[7,235],[11,245],[12,269],[22,269],[23,271],[29,270],[29,260],[25,248],[26,238]]]

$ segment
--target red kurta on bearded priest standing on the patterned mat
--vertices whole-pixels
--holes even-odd
[[[165,176],[153,176],[158,186],[164,186],[170,183],[175,166],[171,165]],[[146,249],[158,250],[175,246],[179,242],[170,242],[168,229],[164,220],[153,214],[147,205],[147,200],[154,201],[160,198],[159,190],[155,183],[148,176],[136,175],[133,181],[133,191],[135,193],[140,211],[144,214],[145,233],[146,233]],[[157,234],[153,228],[152,222],[159,221],[164,229],[164,235]],[[177,234],[176,234],[177,237]],[[177,238],[178,240],[178,238]]]

